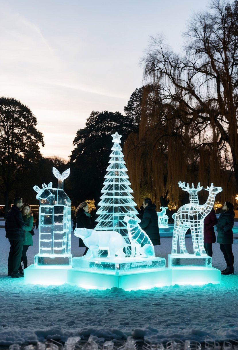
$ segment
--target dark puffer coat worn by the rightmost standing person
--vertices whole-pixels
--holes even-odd
[[[232,244],[235,213],[233,210],[224,211],[217,221],[217,243]]]

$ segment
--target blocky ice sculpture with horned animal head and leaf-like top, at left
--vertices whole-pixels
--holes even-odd
[[[34,186],[39,207],[39,254],[52,257],[71,257],[71,202],[63,189],[64,179],[69,176],[70,169],[62,175],[56,168],[53,174],[58,179],[58,188],[52,188],[52,182],[42,185],[42,189]],[[50,262],[50,264],[54,263]],[[70,264],[71,259],[64,259]],[[64,264],[64,263],[63,263]]]

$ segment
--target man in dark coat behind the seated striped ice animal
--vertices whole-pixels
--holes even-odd
[[[152,203],[150,198],[144,198],[142,206],[144,208],[143,218],[139,225],[147,233],[153,245],[159,245],[160,237],[156,205]]]

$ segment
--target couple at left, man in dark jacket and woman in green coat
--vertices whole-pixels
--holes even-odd
[[[12,278],[23,277],[21,261],[24,269],[27,267],[27,250],[33,245],[31,230],[33,226],[33,214],[27,203],[22,203],[22,198],[14,198],[12,208],[7,213],[5,222],[6,238],[10,242],[8,255],[8,276]]]

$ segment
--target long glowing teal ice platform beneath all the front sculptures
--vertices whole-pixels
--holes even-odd
[[[171,285],[204,285],[221,283],[221,272],[211,266],[208,256],[169,255],[151,259],[85,259],[72,258],[72,267],[64,265],[31,265],[24,270],[25,283],[61,285],[69,283],[86,289],[118,287],[124,290],[151,289]]]

